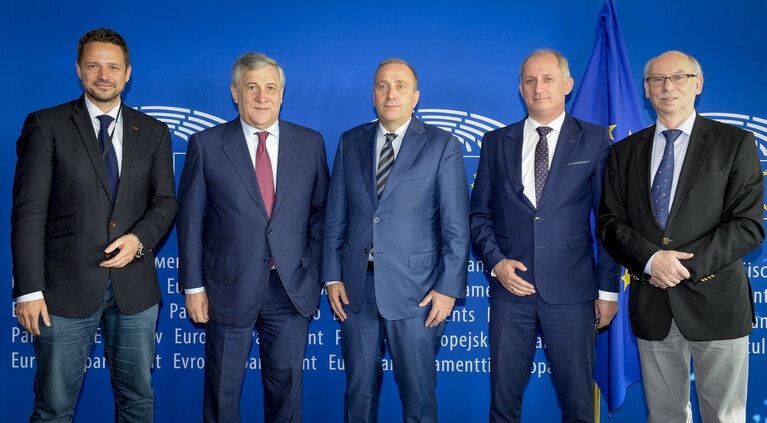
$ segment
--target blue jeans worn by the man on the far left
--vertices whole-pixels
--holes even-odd
[[[85,318],[50,315],[50,327],[41,321],[40,335],[35,337],[35,403],[29,421],[72,421],[85,361],[99,324],[104,356],[112,372],[115,420],[153,421],[154,390],[150,370],[154,361],[157,309],[155,304],[130,316],[120,313],[110,282],[101,307],[93,315]]]

